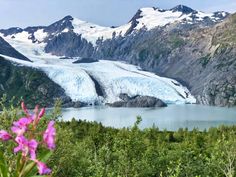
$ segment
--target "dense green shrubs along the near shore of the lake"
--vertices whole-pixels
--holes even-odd
[[[18,111],[11,106],[3,107],[0,129],[9,127]],[[96,122],[59,121],[59,115],[56,106],[42,120],[50,118],[57,122],[56,149],[47,161],[52,176],[236,176],[236,126],[203,132],[159,131],[157,127],[140,130],[141,118],[137,118],[131,128],[114,129]],[[0,142],[0,152],[6,153],[6,149],[6,144]]]

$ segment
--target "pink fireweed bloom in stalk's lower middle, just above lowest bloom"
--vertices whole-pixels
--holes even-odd
[[[23,156],[30,154],[31,159],[36,159],[36,149],[38,143],[36,140],[27,140],[24,136],[16,137],[15,141],[18,143],[18,146],[14,148],[14,153],[22,151]]]

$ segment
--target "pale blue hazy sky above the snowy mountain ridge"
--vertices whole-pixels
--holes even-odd
[[[127,23],[142,7],[236,12],[236,0],[0,0],[0,28],[49,25],[66,15],[102,26]]]

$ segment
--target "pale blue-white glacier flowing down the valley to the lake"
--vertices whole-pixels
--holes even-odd
[[[188,89],[177,81],[141,71],[133,65],[106,60],[73,64],[77,59],[63,60],[47,54],[44,52],[44,43],[32,43],[25,34],[4,39],[33,62],[4,56],[6,59],[44,71],[73,101],[89,104],[112,103],[119,100],[120,93],[127,93],[129,96],[154,96],[173,104],[196,102]],[[103,96],[98,95],[97,83],[92,78],[101,87]]]

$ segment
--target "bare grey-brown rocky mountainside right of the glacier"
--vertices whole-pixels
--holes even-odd
[[[106,41],[94,56],[125,60],[175,78],[188,86],[199,103],[234,106],[235,29],[235,15],[212,27],[183,28],[171,24]]]

